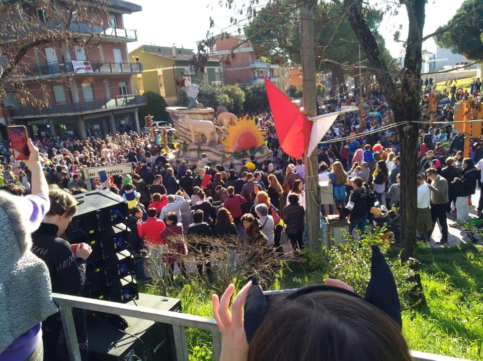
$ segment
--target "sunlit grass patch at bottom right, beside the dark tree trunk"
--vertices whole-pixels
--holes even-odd
[[[483,359],[483,248],[418,249],[428,307],[406,310],[412,349]]]

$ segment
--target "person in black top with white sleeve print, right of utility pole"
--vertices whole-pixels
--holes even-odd
[[[351,178],[352,187],[354,190],[349,195],[349,200],[347,201],[346,208],[342,209],[339,219],[346,218],[349,214],[351,215],[351,224],[349,225],[349,233],[356,226],[359,227],[361,232],[364,232],[367,226],[367,191],[364,186],[364,182],[361,177]]]

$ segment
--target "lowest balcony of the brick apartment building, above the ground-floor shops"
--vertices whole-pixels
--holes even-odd
[[[42,109],[37,107],[9,107],[8,109],[12,119],[22,119],[97,113],[116,108],[131,108],[145,104],[145,95],[131,94],[117,96],[114,99],[93,100],[84,103],[54,104],[49,108]]]

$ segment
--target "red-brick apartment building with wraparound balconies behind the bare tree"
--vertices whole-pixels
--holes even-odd
[[[41,26],[55,26],[40,9],[25,3],[26,11],[35,14]],[[52,0],[52,4],[56,9],[65,6],[61,0]],[[137,111],[146,99],[135,93],[132,75],[142,72],[142,63],[129,59],[126,44],[137,40],[137,32],[124,28],[123,15],[141,10],[127,1],[110,0],[106,26],[71,25],[81,36],[99,34],[96,45],[83,48],[49,43],[30,50],[24,57],[23,79],[30,92],[47,99],[49,106],[20,105],[14,94],[9,94],[0,117],[10,124],[27,126],[35,137],[85,138],[96,132],[139,131]]]

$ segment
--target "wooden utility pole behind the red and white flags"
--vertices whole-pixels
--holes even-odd
[[[315,89],[315,50],[313,36],[313,9],[316,0],[306,1],[300,9],[300,45],[302,59],[302,94],[304,113],[317,115]],[[307,244],[312,249],[320,247],[320,206],[318,187],[317,148],[312,154],[305,152],[305,221]]]

